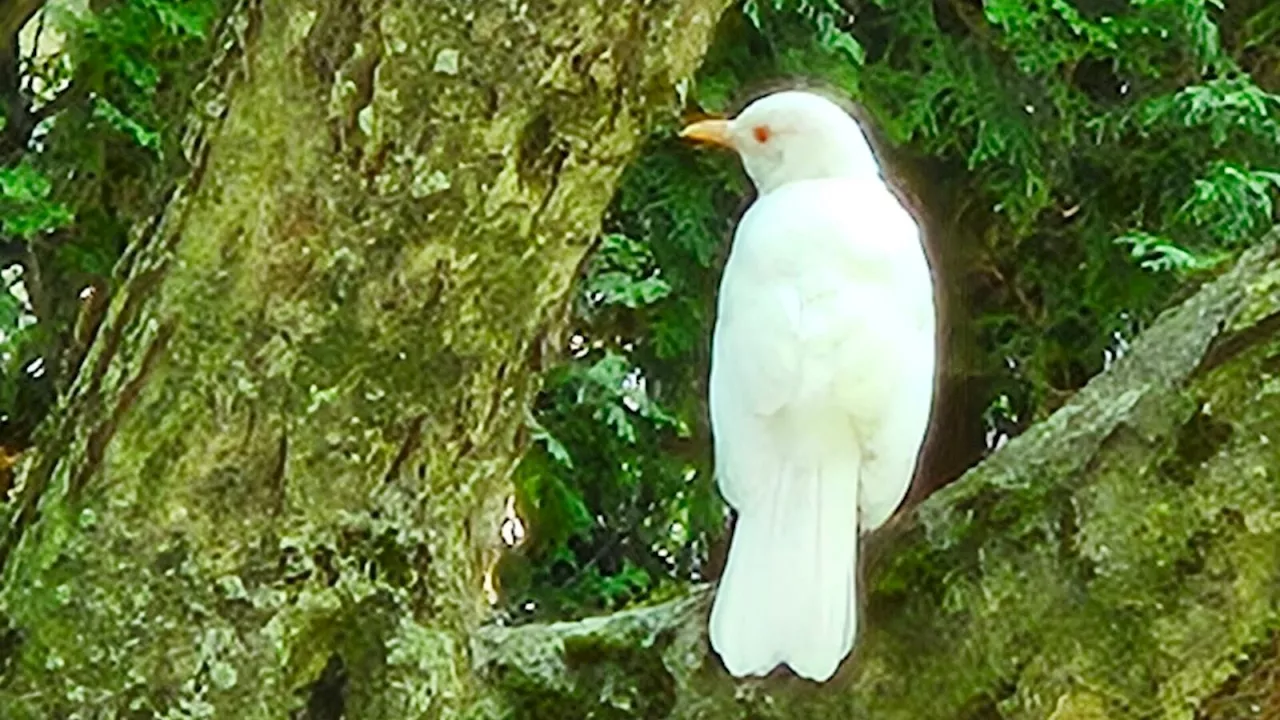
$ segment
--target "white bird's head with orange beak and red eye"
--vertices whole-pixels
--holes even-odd
[[[692,123],[680,137],[735,150],[762,195],[803,179],[879,177],[858,122],[831,100],[800,90],[765,95],[730,119]]]

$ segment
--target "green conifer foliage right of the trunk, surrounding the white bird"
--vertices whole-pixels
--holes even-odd
[[[951,333],[979,348],[951,372],[995,438],[1274,222],[1276,37],[1265,0],[744,0],[692,99],[732,111],[803,78],[924,163],[911,182],[956,249],[940,268],[964,300]],[[732,159],[668,140],[627,172],[518,474],[513,611],[611,607],[701,568],[722,527],[703,407],[716,260],[745,190]]]

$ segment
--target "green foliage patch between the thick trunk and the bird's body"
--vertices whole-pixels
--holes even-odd
[[[516,478],[530,534],[503,564],[522,618],[618,607],[696,578],[723,521],[701,402],[712,288],[741,183],[654,141],[625,176]]]

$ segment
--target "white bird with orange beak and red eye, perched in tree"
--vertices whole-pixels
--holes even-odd
[[[710,419],[737,511],[710,615],[735,676],[829,679],[858,634],[860,532],[902,502],[933,402],[934,301],[914,218],[858,122],[785,91],[681,137],[759,191],[719,287]]]

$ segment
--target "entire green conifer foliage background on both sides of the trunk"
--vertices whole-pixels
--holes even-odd
[[[225,5],[0,9],[0,489],[128,228],[182,167]],[[1267,0],[744,0],[681,91],[690,114],[733,111],[801,81],[856,100],[928,229],[946,369],[918,496],[1061,405],[1274,219]],[[511,621],[676,593],[723,552],[705,375],[751,191],[732,158],[676,142],[677,120],[627,168],[529,418],[499,566]]]

